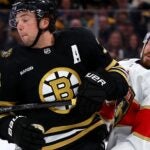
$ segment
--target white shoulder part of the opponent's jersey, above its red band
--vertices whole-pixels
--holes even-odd
[[[129,84],[135,92],[135,99],[141,106],[150,105],[150,69],[144,68],[138,59],[120,61],[129,74]]]

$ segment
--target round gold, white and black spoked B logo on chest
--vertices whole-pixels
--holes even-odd
[[[40,99],[43,102],[70,100],[76,96],[80,84],[80,77],[74,70],[65,67],[52,69],[40,81]],[[50,109],[65,114],[72,107],[72,105],[68,105]]]

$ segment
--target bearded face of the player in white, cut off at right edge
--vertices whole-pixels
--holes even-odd
[[[145,66],[150,67],[150,40],[144,48],[142,61]]]

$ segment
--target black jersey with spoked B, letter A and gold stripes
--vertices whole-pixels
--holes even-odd
[[[18,46],[9,54],[1,53],[0,106],[76,98],[86,73],[98,68],[125,77],[123,69],[90,31],[71,28],[56,32],[54,37],[55,44],[50,47]],[[42,150],[63,148],[104,124],[96,113],[81,116],[73,105],[18,114],[44,126],[46,145]]]

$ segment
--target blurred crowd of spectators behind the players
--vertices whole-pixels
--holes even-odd
[[[8,24],[12,1],[0,0],[0,50],[21,43]],[[140,56],[142,40],[150,32],[150,0],[57,0],[57,5],[57,30],[86,27],[113,58]]]

